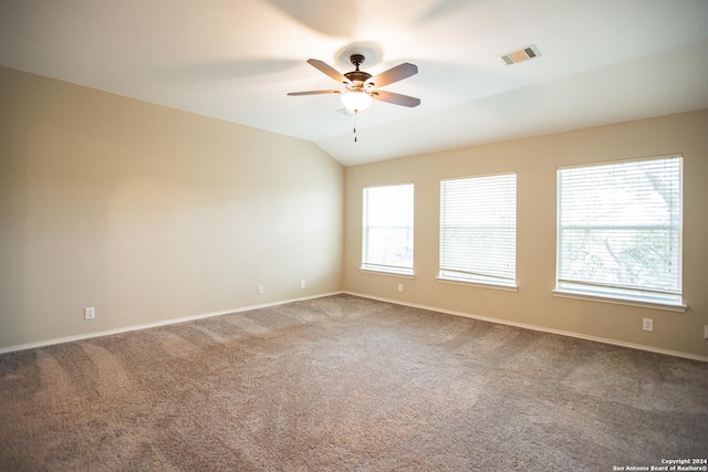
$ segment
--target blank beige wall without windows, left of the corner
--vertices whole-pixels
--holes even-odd
[[[310,143],[0,69],[0,348],[339,291],[342,211]]]

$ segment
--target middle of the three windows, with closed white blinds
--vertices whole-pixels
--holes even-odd
[[[440,182],[441,280],[516,286],[517,175]]]

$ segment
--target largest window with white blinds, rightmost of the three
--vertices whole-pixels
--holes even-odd
[[[680,306],[681,165],[558,170],[558,291]]]

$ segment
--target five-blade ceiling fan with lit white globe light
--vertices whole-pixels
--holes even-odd
[[[354,114],[366,109],[368,105],[371,105],[372,98],[381,102],[393,103],[394,105],[408,107],[420,105],[420,98],[378,90],[378,87],[393,84],[394,82],[403,81],[404,78],[408,78],[412,75],[417,74],[418,67],[415,64],[405,62],[385,72],[382,72],[378,75],[372,75],[368,72],[360,71],[358,69],[365,60],[363,54],[352,54],[350,56],[350,60],[356,69],[345,74],[341,74],[331,65],[316,59],[308,60],[308,63],[310,65],[343,84],[344,90],[291,92],[288,95],[300,96],[341,94],[342,103],[348,111],[353,112]]]

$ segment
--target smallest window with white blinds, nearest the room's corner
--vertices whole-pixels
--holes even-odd
[[[362,269],[413,275],[413,183],[365,187]]]

